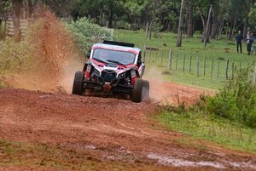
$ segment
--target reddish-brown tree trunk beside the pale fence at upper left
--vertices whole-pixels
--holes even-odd
[[[13,21],[14,21],[14,31],[15,31],[15,42],[20,42],[21,39],[21,28],[20,28],[20,10],[22,8],[22,1],[12,0],[13,3]]]

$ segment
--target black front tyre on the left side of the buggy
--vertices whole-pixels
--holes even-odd
[[[83,94],[83,83],[84,83],[84,72],[77,71],[73,80],[72,94],[82,95]]]

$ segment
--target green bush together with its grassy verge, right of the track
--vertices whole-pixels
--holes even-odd
[[[247,71],[237,73],[216,96],[201,96],[195,105],[164,105],[161,123],[189,134],[240,151],[256,152],[256,85]]]

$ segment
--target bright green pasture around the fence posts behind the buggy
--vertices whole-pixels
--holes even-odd
[[[119,41],[135,43],[137,47],[143,48],[146,43],[147,47],[160,48],[160,52],[147,51],[145,63],[149,67],[156,66],[160,72],[168,71],[168,54],[169,49],[172,48],[172,74],[163,76],[167,82],[184,83],[205,88],[218,89],[224,85],[225,82],[225,68],[227,60],[229,59],[229,77],[232,76],[232,63],[234,63],[233,73],[241,67],[245,68],[248,65],[254,66],[256,56],[248,56],[246,54],[246,44],[243,44],[243,54],[236,53],[235,40],[233,42],[226,39],[211,40],[207,44],[207,48],[203,48],[201,38],[183,37],[183,47],[176,47],[177,35],[170,32],[161,33],[161,37],[153,37],[148,40],[144,36],[144,31],[125,31],[115,30],[115,37]],[[166,46],[165,46],[165,45]],[[163,54],[162,54],[163,53]],[[163,62],[161,60],[163,55]],[[185,58],[184,58],[185,55]],[[191,74],[189,73],[189,60],[191,56]],[[197,57],[199,58],[199,77],[196,74]],[[185,63],[183,63],[185,59]],[[204,63],[206,59],[206,71],[204,74]],[[213,68],[212,68],[213,59]],[[218,73],[218,59],[220,62]],[[183,71],[184,64],[184,71]],[[177,66],[177,70],[176,70]],[[212,71],[212,77],[211,77]]]

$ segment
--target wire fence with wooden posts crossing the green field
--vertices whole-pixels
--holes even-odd
[[[195,74],[197,77],[217,77],[225,80],[234,79],[236,71],[247,69],[248,77],[256,80],[255,63],[241,63],[231,61],[223,57],[202,57],[199,54],[189,55],[169,52],[161,48],[150,48],[144,45],[143,60],[153,66],[166,67],[172,71],[182,71]],[[249,68],[253,68],[253,74],[249,73]]]

